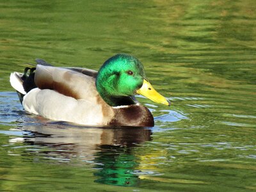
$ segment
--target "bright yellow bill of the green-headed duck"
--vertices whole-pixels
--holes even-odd
[[[136,91],[136,93],[147,97],[154,102],[164,104],[166,106],[170,106],[171,102],[167,100],[163,95],[157,93],[157,91],[152,87],[152,85],[144,79],[143,84],[140,89]]]

